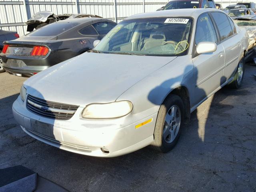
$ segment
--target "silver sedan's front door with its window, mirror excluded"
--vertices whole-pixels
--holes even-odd
[[[196,46],[200,42],[215,42],[217,50],[211,53],[198,55]],[[218,43],[217,32],[208,13],[198,17],[196,24],[196,34],[193,49],[193,64],[195,77],[196,100],[193,104],[199,103],[206,96],[214,92],[220,84],[224,72],[224,49]]]

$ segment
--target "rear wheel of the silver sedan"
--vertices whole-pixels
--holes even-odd
[[[244,61],[244,58],[242,58],[240,60],[240,62],[238,63],[236,73],[234,75],[234,79],[229,84],[229,86],[231,88],[238,89],[242,85],[242,82],[243,82],[243,79],[244,79],[244,65],[245,65],[245,61]]]

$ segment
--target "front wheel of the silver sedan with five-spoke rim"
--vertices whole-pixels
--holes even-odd
[[[174,110],[176,110],[176,114]],[[152,143],[156,150],[166,153],[176,145],[182,132],[184,114],[182,99],[177,95],[170,94],[158,111],[154,142]]]

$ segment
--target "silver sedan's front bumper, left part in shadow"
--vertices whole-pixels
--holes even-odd
[[[134,152],[151,144],[157,112],[128,114],[110,120],[87,120],[81,117],[83,107],[78,108],[70,120],[53,120],[38,116],[26,109],[20,98],[14,102],[15,120],[30,136],[46,144],[79,154],[114,157]],[[148,119],[152,122],[135,128]],[[108,150],[103,152],[103,149]],[[105,151],[106,151],[105,150]]]

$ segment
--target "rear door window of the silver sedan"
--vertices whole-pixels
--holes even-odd
[[[211,14],[220,32],[220,40],[222,41],[232,36],[233,30],[231,28],[230,22],[228,21],[228,17],[224,13],[220,13],[220,12],[213,12]]]

